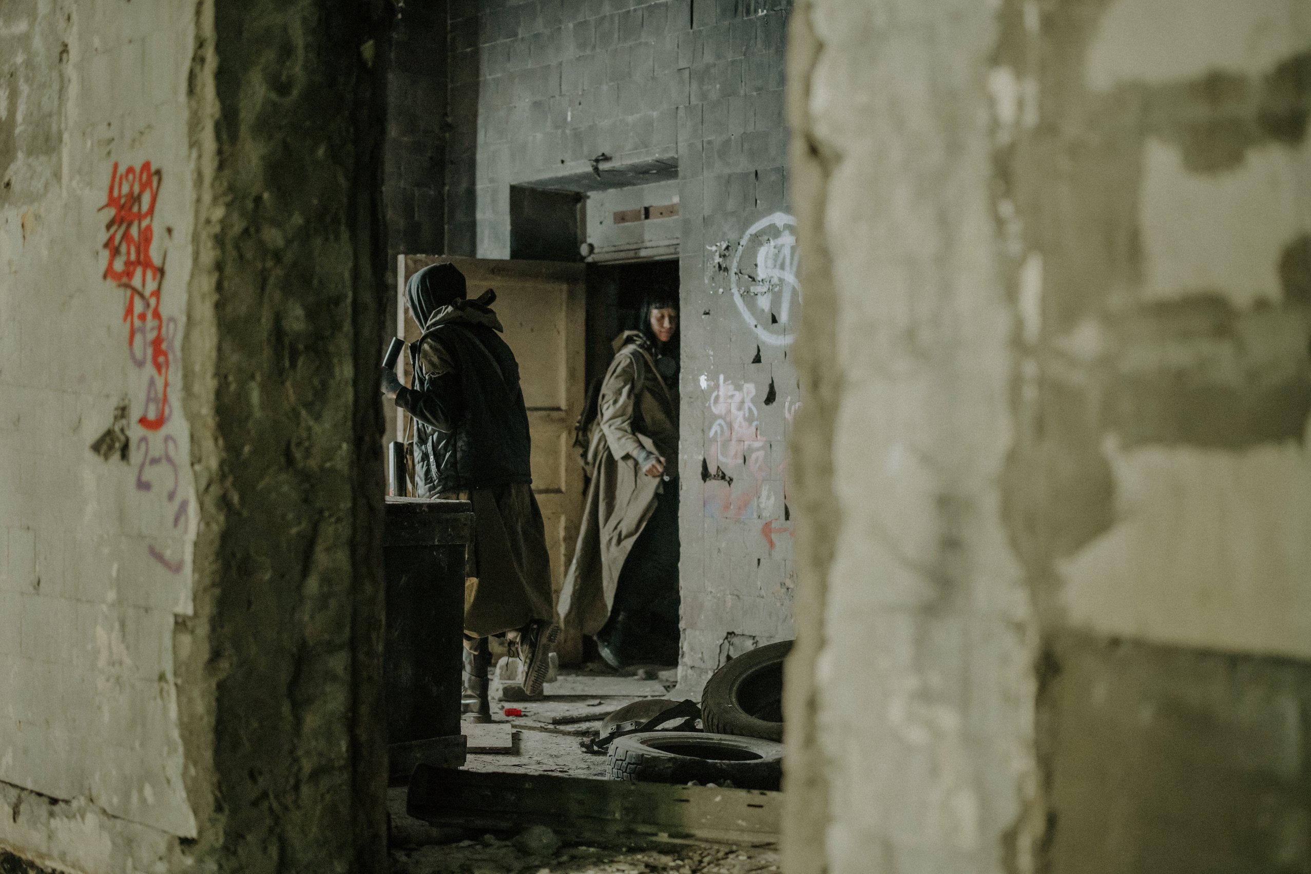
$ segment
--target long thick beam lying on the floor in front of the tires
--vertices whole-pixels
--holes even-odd
[[[578,840],[663,836],[759,843],[779,837],[783,793],[421,765],[410,778],[408,810],[434,826],[547,826]]]

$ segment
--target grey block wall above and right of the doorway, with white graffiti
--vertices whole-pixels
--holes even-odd
[[[802,402],[789,356],[802,292],[784,166],[787,5],[451,8],[450,252],[509,257],[511,183],[586,172],[602,153],[607,168],[678,160],[690,694],[730,655],[792,636],[785,447]],[[762,265],[779,275],[762,282]]]

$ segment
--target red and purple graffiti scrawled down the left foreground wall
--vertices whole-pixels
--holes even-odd
[[[173,528],[185,532],[189,499],[181,494],[178,465],[182,463],[182,452],[176,434],[169,428],[173,418],[169,389],[170,376],[178,362],[178,322],[176,317],[165,317],[160,311],[166,253],[155,258],[155,206],[163,178],[163,172],[149,161],[123,169],[115,161],[110,169],[109,190],[100,207],[101,212],[109,212],[101,246],[105,250],[102,279],[123,292],[122,321],[127,325],[127,355],[146,377],[136,415],[140,434],[131,447],[125,446],[123,457],[130,460],[132,455],[139,456],[136,490],[159,495],[172,510]],[[172,236],[172,229],[165,228],[165,233]],[[125,425],[119,423],[119,434],[127,436]],[[132,442],[128,438],[126,443]],[[92,449],[97,451],[96,444]],[[105,456],[104,451],[97,452]],[[182,573],[181,558],[169,557],[155,544],[147,544],[147,552],[170,573]]]

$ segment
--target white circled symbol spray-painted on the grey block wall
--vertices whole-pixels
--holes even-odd
[[[800,314],[797,220],[775,212],[747,228],[733,254],[733,300],[746,324],[766,343],[792,343]]]

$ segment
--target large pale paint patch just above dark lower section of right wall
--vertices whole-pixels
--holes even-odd
[[[1180,646],[1311,658],[1311,422],[1302,446],[1122,451],[1116,523],[1058,565],[1070,621]]]

